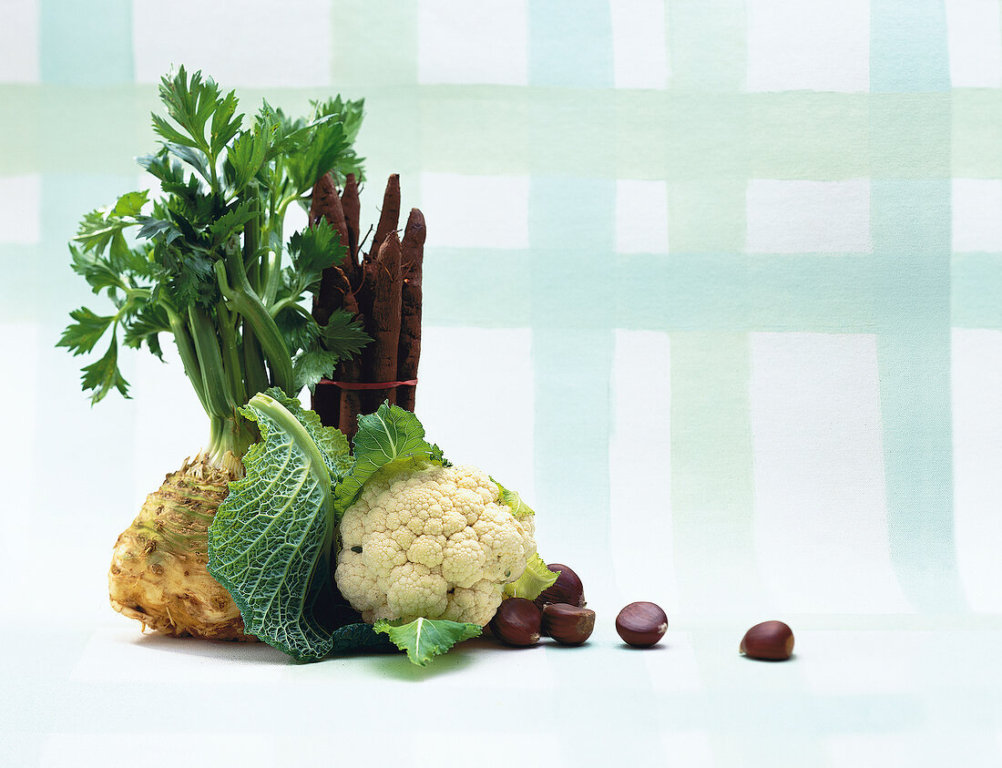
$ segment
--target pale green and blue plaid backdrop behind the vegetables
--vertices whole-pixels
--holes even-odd
[[[655,584],[692,616],[1002,614],[998,0],[0,14],[0,386],[18,403],[0,471],[30,478],[4,485],[31,510],[0,541],[12,573],[80,519],[57,546],[102,573],[198,448],[179,366],[132,355],[135,400],[91,411],[52,348],[95,301],[65,242],[148,185],[131,158],[183,63],[246,111],[366,97],[364,218],[399,171],[429,223],[419,415],[533,499],[541,550],[591,563],[610,602]]]

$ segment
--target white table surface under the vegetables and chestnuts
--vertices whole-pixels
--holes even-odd
[[[1002,622],[788,617],[794,657],[670,616],[635,650],[598,613],[579,648],[456,647],[296,664],[263,644],[140,634],[96,611],[3,628],[3,765],[995,766]]]

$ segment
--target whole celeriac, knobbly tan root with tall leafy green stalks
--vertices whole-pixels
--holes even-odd
[[[58,346],[89,353],[110,339],[83,368],[83,388],[97,402],[112,389],[128,396],[119,339],[160,357],[159,335],[173,337],[209,439],[119,536],[111,604],[169,635],[243,640],[236,606],[206,572],[206,530],[260,437],[238,409],[270,386],[292,396],[312,389],[370,341],[347,302],[323,316],[302,305],[323,292],[325,270],[353,241],[339,242],[341,231],[326,221],[288,240],[283,232],[289,206],[308,208],[318,180],[351,178],[347,189],[361,178],[352,144],[363,103],[339,96],[292,119],[266,101],[245,121],[233,91],[222,94],[183,67],[162,78],[159,95],[166,116],[152,118],[160,148],[139,160],[157,194],[150,201],[148,190],[128,193],[87,214],[70,246],[73,270],[106,295],[110,312],[71,312]]]

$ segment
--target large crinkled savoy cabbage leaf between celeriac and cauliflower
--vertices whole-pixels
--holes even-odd
[[[296,659],[320,659],[336,629],[330,467],[337,459],[325,446],[347,449],[347,441],[292,398],[270,392],[240,409],[262,439],[209,525],[207,568],[232,596],[247,633]]]

